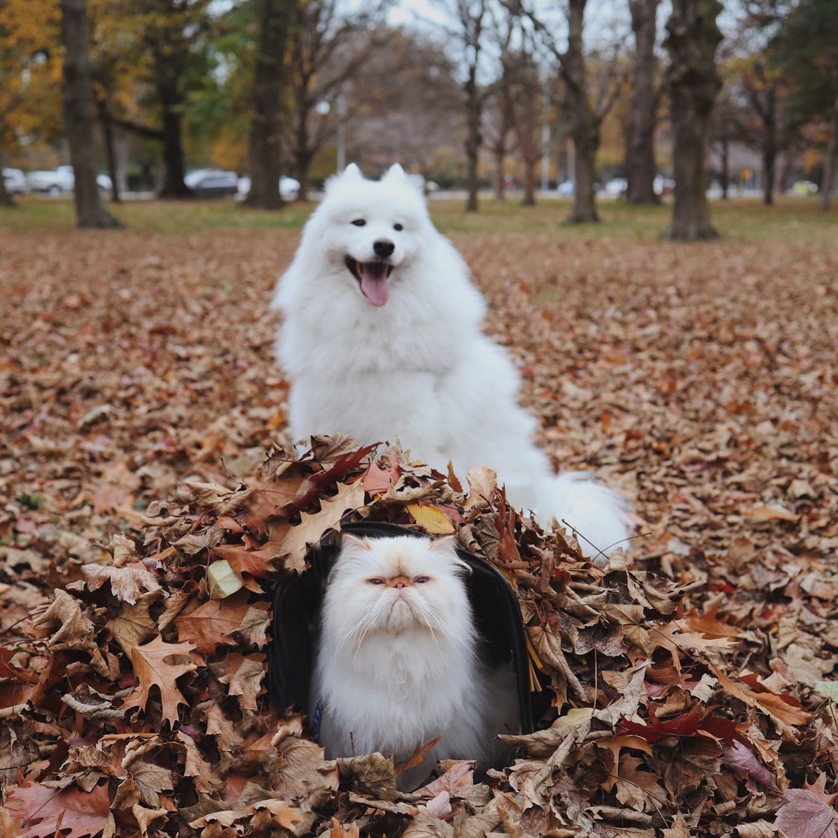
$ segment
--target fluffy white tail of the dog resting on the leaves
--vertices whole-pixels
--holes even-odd
[[[576,534],[582,553],[594,564],[607,564],[618,547],[629,549],[629,502],[590,472],[557,475],[551,494],[557,525]]]

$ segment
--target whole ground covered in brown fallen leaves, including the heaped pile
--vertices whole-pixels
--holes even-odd
[[[297,235],[0,230],[0,834],[835,835],[838,246],[453,235],[557,468],[634,499],[603,571],[485,473],[292,457]],[[514,766],[398,794],[267,706],[266,591],[344,515],[515,585]]]

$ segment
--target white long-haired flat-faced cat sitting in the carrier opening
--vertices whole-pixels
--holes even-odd
[[[453,539],[344,535],[323,600],[312,719],[327,758],[392,754],[416,788],[439,759],[503,762],[520,723],[511,670],[487,670]]]

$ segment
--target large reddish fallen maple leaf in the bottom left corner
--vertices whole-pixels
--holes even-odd
[[[106,783],[89,792],[32,783],[10,786],[7,794],[6,805],[26,829],[18,838],[86,838],[99,835],[111,819]]]

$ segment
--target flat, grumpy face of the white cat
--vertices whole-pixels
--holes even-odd
[[[471,620],[466,573],[452,539],[344,536],[328,581],[328,629],[350,649],[382,631],[456,637]]]

